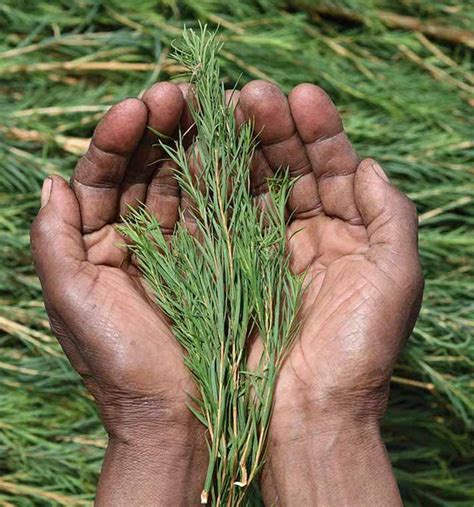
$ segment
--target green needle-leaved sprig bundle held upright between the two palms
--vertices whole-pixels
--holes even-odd
[[[185,29],[173,55],[191,76],[196,135],[189,150],[186,133],[175,145],[161,144],[177,167],[188,216],[181,211],[169,244],[146,209],[132,211],[120,230],[198,387],[190,408],[208,429],[209,447],[201,502],[241,505],[263,464],[276,376],[297,331],[302,277],[290,271],[285,247],[289,176],[269,182],[271,205],[263,211],[250,192],[252,125],[237,126],[235,105],[226,104],[220,47],[205,26]],[[256,339],[263,352],[254,367]]]

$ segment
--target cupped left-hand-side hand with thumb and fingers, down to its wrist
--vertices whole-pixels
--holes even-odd
[[[186,468],[181,458],[188,462],[196,453],[206,454],[200,423],[186,407],[194,386],[182,350],[148,298],[115,224],[129,206],[144,202],[165,234],[172,233],[180,193],[148,127],[171,137],[180,125],[187,129],[186,93],[185,87],[158,83],[143,100],[113,106],[71,185],[57,176],[45,180],[31,230],[52,330],[95,398],[111,440],[140,449],[132,462],[161,442],[151,461],[168,459],[170,470]],[[192,490],[181,486],[183,495]],[[173,498],[179,490],[175,485]],[[127,496],[106,498],[120,505]]]

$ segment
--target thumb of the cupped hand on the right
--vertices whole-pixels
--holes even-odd
[[[372,159],[357,168],[354,198],[369,236],[368,258],[395,283],[421,285],[418,218],[412,201]]]

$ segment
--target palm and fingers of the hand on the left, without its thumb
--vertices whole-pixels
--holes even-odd
[[[142,103],[129,101],[116,106],[104,118],[94,135],[87,162],[79,162],[73,177],[90,270],[83,274],[94,280],[88,297],[79,296],[78,300],[84,306],[83,315],[89,316],[83,320],[82,325],[88,328],[84,332],[96,336],[99,349],[95,356],[99,359],[89,361],[89,367],[97,369],[92,372],[93,378],[108,377],[113,388],[125,388],[134,396],[161,396],[182,402],[189,378],[181,350],[163,315],[148,298],[126,249],[117,246],[124,240],[113,223],[127,212],[129,205],[147,201],[155,212],[162,211],[160,219],[166,227],[175,214],[168,208],[178,206],[177,193],[166,187],[166,168],[156,163],[161,153],[154,146],[156,137],[146,123],[173,135],[183,113],[184,99],[179,88],[164,83],[151,89],[144,100],[146,112]],[[116,174],[121,181],[116,187],[105,185],[102,195],[98,194],[97,183],[111,177],[106,170],[117,169],[122,173]],[[96,305],[100,305],[101,312],[88,311]],[[75,309],[78,310],[80,313],[81,308]]]

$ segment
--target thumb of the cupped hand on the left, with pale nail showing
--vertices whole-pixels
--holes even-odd
[[[49,298],[86,259],[79,204],[63,178],[50,176],[44,181],[30,239],[36,271]]]

